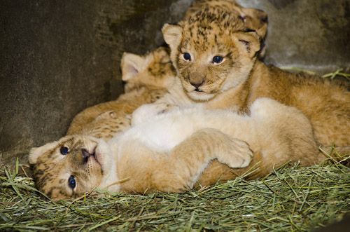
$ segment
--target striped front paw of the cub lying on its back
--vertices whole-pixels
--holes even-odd
[[[217,157],[220,163],[225,163],[230,168],[245,168],[251,163],[253,151],[246,142],[230,139],[224,146],[223,152]]]

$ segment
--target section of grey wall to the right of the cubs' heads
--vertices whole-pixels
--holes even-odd
[[[350,0],[237,0],[269,15],[265,62],[350,70]]]

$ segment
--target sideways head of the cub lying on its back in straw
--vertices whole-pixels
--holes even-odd
[[[102,139],[68,135],[31,149],[37,188],[55,200],[80,196],[103,184],[111,170],[111,152]]]

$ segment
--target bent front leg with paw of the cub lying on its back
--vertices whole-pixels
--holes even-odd
[[[246,142],[233,139],[215,129],[195,132],[153,170],[152,189],[165,192],[183,192],[193,189],[195,182],[209,162],[218,159],[230,168],[244,168],[253,156]]]

